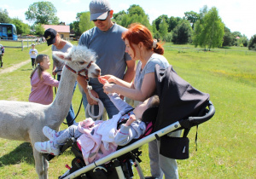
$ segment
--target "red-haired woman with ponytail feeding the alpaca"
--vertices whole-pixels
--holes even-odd
[[[132,61],[138,61],[136,76],[131,84],[113,75],[102,76],[112,83],[104,84],[104,92],[107,94],[116,92],[134,101],[145,101],[154,95],[156,90],[154,66],[156,64],[163,68],[169,66],[163,56],[164,49],[162,44],[153,39],[148,28],[141,24],[131,24],[128,31],[123,33],[122,38],[125,41],[125,52],[131,56]],[[101,79],[99,81],[101,82]],[[180,133],[181,131],[178,130],[168,136],[180,136]],[[160,141],[154,140],[148,143],[152,176],[163,178],[163,174],[165,174],[166,179],[178,178],[176,160],[162,156],[159,153],[159,148]]]

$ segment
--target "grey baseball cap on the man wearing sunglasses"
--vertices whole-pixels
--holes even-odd
[[[111,10],[108,0],[92,0],[89,7],[90,20],[106,20]]]

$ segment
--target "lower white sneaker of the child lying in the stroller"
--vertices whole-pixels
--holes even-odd
[[[52,155],[60,154],[60,148],[55,148],[53,146],[53,141],[38,141],[35,143],[35,148],[39,153],[49,153]]]

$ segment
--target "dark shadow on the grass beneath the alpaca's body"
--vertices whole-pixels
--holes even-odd
[[[0,157],[0,167],[3,165],[15,165],[21,162],[34,165],[34,157],[32,153],[32,147],[29,142],[21,143],[12,152]]]

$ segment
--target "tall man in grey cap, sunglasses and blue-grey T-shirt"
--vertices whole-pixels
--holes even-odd
[[[96,52],[96,64],[102,69],[102,75],[112,74],[131,83],[136,64],[125,53],[125,43],[121,38],[122,33],[127,29],[114,23],[111,20],[112,17],[113,9],[107,0],[92,0],[90,2],[90,20],[94,22],[95,27],[82,34],[79,38],[79,45],[84,45]],[[78,77],[77,79],[83,88],[84,110],[89,103],[95,106],[95,115],[98,115],[97,102],[88,95],[87,83],[84,78]],[[114,107],[108,95],[103,92],[102,84],[96,78],[90,79],[89,84],[92,86],[91,94],[102,101],[108,118],[112,118],[114,114],[118,113],[118,109]]]

